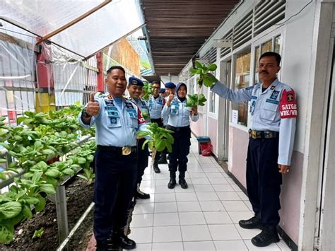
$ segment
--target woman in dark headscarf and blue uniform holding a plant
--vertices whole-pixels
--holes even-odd
[[[172,145],[170,153],[170,181],[167,187],[173,189],[176,185],[176,171],[179,170],[179,184],[182,189],[187,189],[185,180],[187,171],[187,155],[189,146],[191,146],[191,129],[189,128],[189,119],[196,122],[199,119],[197,107],[186,106],[187,86],[184,83],[178,83],[176,94],[170,93],[166,105],[163,108],[163,117],[167,117],[167,129],[174,132],[172,134],[175,142]]]

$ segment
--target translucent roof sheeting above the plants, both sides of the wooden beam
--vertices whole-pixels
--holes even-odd
[[[45,36],[73,21],[103,1],[1,0],[0,18]],[[49,40],[83,57],[98,52],[143,25],[139,0],[113,0]]]

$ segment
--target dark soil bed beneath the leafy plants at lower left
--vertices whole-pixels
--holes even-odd
[[[66,185],[67,213],[69,231],[74,227],[81,215],[86,211],[93,197],[93,184],[87,185],[85,181],[76,178]],[[92,233],[92,214],[84,221],[85,227],[80,227],[69,242],[69,250],[85,250],[89,241],[89,231]],[[44,228],[41,238],[32,239],[35,230]],[[87,239],[87,240],[86,240]],[[56,250],[59,246],[57,213],[53,202],[48,201],[45,209],[33,218],[16,227],[15,238],[8,245],[0,245],[0,250]]]

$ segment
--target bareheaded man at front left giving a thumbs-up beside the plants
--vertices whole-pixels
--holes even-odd
[[[127,88],[125,71],[112,66],[105,79],[107,93],[91,95],[78,115],[83,127],[95,124],[94,226],[97,250],[109,244],[126,250],[136,243],[124,235],[127,213],[137,175],[136,132],[146,129],[139,107],[122,95]]]

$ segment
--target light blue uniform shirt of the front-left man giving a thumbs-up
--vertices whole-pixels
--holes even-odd
[[[83,124],[81,113],[78,121],[81,126],[89,128],[95,124],[95,141],[101,146],[136,146],[136,132],[146,130],[139,107],[127,98],[116,105],[109,93],[96,93],[94,100],[99,103],[100,112],[90,119],[90,124]]]

